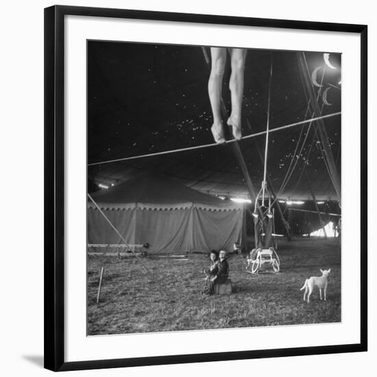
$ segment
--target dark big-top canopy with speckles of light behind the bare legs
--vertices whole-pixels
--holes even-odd
[[[341,56],[330,53],[332,69],[326,65],[324,52],[305,53],[316,94],[316,84],[322,83],[318,96],[322,116],[341,111]],[[266,130],[271,62],[270,130],[312,117],[296,51],[250,49],[245,65],[243,135]],[[88,41],[88,192],[98,191],[99,184],[110,191],[112,186],[153,171],[226,201],[250,198],[245,175],[228,143],[158,155],[213,143],[208,75],[202,47]],[[228,62],[223,80],[228,111],[229,75]],[[323,121],[340,178],[341,117]],[[334,172],[316,127],[317,122],[308,122],[269,134],[269,185],[293,234],[321,228],[318,210],[325,223],[337,221],[335,215],[341,213],[331,178]],[[265,141],[261,134],[239,142],[257,190],[263,181]],[[106,163],[144,154],[156,155]],[[254,208],[254,203],[249,207]],[[252,224],[249,217],[247,212],[247,223]],[[253,232],[252,226],[249,231]],[[278,216],[276,232],[284,233]]]

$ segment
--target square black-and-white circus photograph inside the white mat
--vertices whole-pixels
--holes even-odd
[[[87,335],[342,321],[341,53],[87,41]]]

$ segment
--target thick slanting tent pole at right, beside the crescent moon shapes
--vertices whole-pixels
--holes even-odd
[[[321,110],[319,109],[318,101],[315,96],[315,91],[313,89],[313,84],[311,82],[311,75],[308,70],[308,65],[306,64],[305,53],[297,52],[297,60],[300,66],[300,70],[302,72],[304,86],[308,92],[309,99],[311,100],[311,107],[313,109],[315,117],[320,117]],[[337,172],[337,166],[335,165],[334,156],[332,154],[331,146],[328,141],[328,136],[327,136],[324,120],[323,119],[317,120],[317,125],[318,125],[317,130],[319,133],[319,138],[321,139],[321,143],[324,147],[324,153],[326,156],[326,160],[328,162],[328,167],[330,169],[330,179],[337,193],[338,200],[339,202],[341,202],[341,184],[340,184],[339,175]]]

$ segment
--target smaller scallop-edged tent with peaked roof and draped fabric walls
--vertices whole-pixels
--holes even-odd
[[[127,243],[149,243],[151,253],[231,251],[241,241],[243,207],[144,173],[93,194]],[[124,243],[88,202],[88,243]]]

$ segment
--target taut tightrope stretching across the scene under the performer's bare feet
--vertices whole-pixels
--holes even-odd
[[[341,111],[339,111],[339,112],[333,112],[332,114],[322,115],[321,117],[317,117],[317,118],[313,118],[313,119],[306,119],[304,121],[295,122],[295,123],[291,123],[291,124],[288,124],[288,125],[282,125],[281,127],[276,127],[276,128],[273,128],[272,130],[269,130],[269,133],[271,134],[271,132],[277,132],[277,131],[281,131],[281,130],[287,130],[287,128],[295,127],[296,125],[303,125],[303,124],[309,123],[311,121],[318,121],[319,119],[326,119],[326,118],[330,118],[330,117],[336,117],[337,115],[340,115],[340,114],[341,114]],[[265,131],[256,132],[255,134],[250,134],[250,135],[247,135],[247,136],[243,136],[242,139],[241,139],[241,141],[245,140],[245,139],[248,139],[248,138],[254,138],[256,136],[262,136],[262,135],[265,135],[265,134],[266,134]],[[236,141],[236,139],[232,139],[232,140],[226,141],[226,143],[227,144],[228,143],[234,143],[235,141]],[[190,151],[190,150],[193,150],[193,149],[208,148],[208,147],[215,147],[215,146],[219,147],[219,144],[217,144],[217,143],[211,143],[211,144],[204,144],[204,145],[195,145],[194,147],[186,147],[186,148],[180,148],[180,149],[173,149],[173,150],[170,150],[170,151],[161,151],[161,152],[151,153],[151,154],[142,154],[142,155],[139,155],[139,156],[117,158],[115,160],[106,160],[106,161],[100,161],[100,162],[92,162],[91,164],[88,164],[88,167],[93,167],[95,165],[110,164],[112,162],[121,162],[121,161],[127,161],[127,160],[135,160],[136,158],[145,158],[145,157],[151,157],[151,156],[161,156],[161,155],[164,155],[164,154],[171,154],[171,153],[176,153],[176,152],[180,152],[180,151]]]

